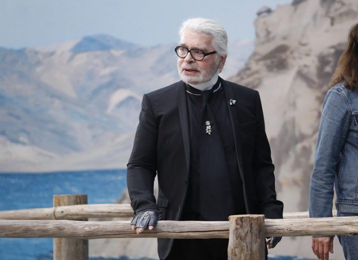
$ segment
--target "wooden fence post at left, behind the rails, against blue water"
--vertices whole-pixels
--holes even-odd
[[[53,195],[54,207],[78,204],[87,204],[87,195]],[[53,260],[88,260],[88,240],[54,238]]]

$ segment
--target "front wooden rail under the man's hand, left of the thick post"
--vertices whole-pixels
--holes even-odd
[[[227,221],[159,221],[137,235],[130,221],[0,220],[0,237],[55,238],[228,238]]]

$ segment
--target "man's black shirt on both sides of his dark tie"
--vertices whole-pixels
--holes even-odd
[[[198,145],[200,134],[205,132],[205,121],[209,118],[206,118],[206,115],[204,116],[204,120],[202,118],[203,101],[201,91],[199,89],[191,87],[190,85],[186,85],[186,98],[190,134],[190,173],[188,183],[189,186],[183,208],[183,218],[187,220],[190,218],[192,220],[199,220],[200,216],[198,212],[198,205],[200,201],[200,173],[198,172],[198,169],[199,160],[205,160],[205,158],[200,157]],[[228,176],[229,173],[239,175],[232,125],[225,101],[225,92],[220,84],[220,79],[212,87],[207,105],[211,111],[211,116],[214,117],[214,122],[216,122],[216,125],[212,125],[212,135],[220,135],[223,145],[225,163],[227,166],[226,171],[228,171],[228,173],[223,173],[223,176]],[[220,150],[218,150],[218,152],[219,151]],[[237,188],[235,188],[235,190],[232,192],[233,200],[236,201],[234,205],[235,212],[233,212],[233,214],[244,214],[245,206],[243,200],[242,181],[240,178],[239,183],[236,183],[234,186]],[[237,201],[239,201],[239,203],[237,203]]]

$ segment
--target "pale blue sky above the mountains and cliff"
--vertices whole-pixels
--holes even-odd
[[[230,40],[255,38],[256,12],[292,0],[0,0],[0,47],[30,48],[108,34],[142,46],[176,43],[181,22],[206,17]]]

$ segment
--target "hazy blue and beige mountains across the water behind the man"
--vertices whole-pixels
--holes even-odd
[[[231,43],[233,75],[253,43]],[[109,35],[0,48],[0,172],[125,168],[142,96],[179,81],[175,45]]]

